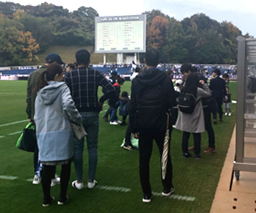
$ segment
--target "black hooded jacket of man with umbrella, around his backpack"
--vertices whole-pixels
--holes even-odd
[[[155,85],[159,85],[159,87],[161,87],[161,92],[163,94],[161,116],[159,116],[159,119],[156,121],[157,124],[155,123],[148,125],[149,129],[159,128],[161,131],[166,129],[166,112],[168,112],[171,107],[176,106],[176,94],[174,92],[174,85],[171,82],[171,78],[166,75],[166,72],[156,68],[149,68],[140,72],[139,75],[137,75],[137,77],[135,77],[132,81],[131,101],[129,106],[129,121],[131,122],[132,133],[137,133],[143,129],[142,125],[139,124],[140,121],[137,116],[137,94],[139,94],[143,87],[153,87]],[[145,116],[154,116],[154,114],[149,113]],[[149,119],[149,121],[150,120],[151,119]]]

